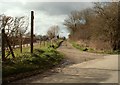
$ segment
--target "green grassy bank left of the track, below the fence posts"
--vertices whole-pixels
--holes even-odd
[[[33,54],[29,53],[30,47],[24,47],[23,53],[20,53],[19,49],[15,49],[14,53],[16,57],[7,58],[3,62],[3,80],[12,75],[20,73],[30,72],[34,70],[46,70],[58,65],[62,59],[63,54],[56,51],[59,47],[59,43],[54,43],[55,48],[50,47],[50,44],[46,46],[34,46]]]

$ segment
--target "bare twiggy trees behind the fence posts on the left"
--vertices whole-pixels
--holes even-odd
[[[13,47],[18,43],[19,36],[26,32],[28,28],[27,17],[11,17],[4,14],[0,15],[0,29],[5,29],[5,34]],[[20,39],[22,43],[22,38]]]

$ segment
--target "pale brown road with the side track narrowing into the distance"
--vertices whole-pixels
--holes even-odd
[[[69,65],[14,83],[118,83],[118,55],[80,52],[69,43],[63,52]]]

